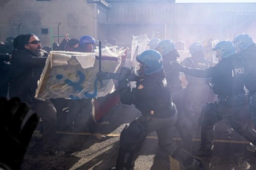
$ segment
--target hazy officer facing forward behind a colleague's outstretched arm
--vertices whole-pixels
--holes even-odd
[[[191,57],[187,57],[181,61],[182,65],[196,69],[206,69],[213,66],[213,62],[205,58],[203,45],[200,42],[192,43],[189,52]],[[196,124],[203,105],[207,102],[212,102],[214,95],[208,79],[189,75],[185,75],[185,77],[188,84],[184,89],[184,112],[189,120],[193,124]],[[209,101],[210,99],[212,100]]]

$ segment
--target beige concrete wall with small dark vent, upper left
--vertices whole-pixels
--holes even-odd
[[[51,45],[50,27],[53,35],[57,35],[59,23],[59,35],[69,33],[76,39],[83,35],[97,38],[97,4],[86,0],[1,0],[0,41],[5,41],[7,36],[18,36],[20,23],[20,34],[33,32],[44,46]],[[48,29],[48,34],[41,34],[41,29]],[[60,42],[62,39],[59,38]]]

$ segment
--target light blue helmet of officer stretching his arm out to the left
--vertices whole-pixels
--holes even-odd
[[[216,51],[216,57],[218,58],[227,58],[235,54],[235,46],[230,41],[218,42],[212,50]]]

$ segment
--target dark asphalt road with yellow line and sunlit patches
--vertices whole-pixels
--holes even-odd
[[[94,169],[107,170],[115,165],[120,132],[125,125],[140,116],[139,110],[133,105],[118,104],[104,116],[109,125],[98,125],[99,132],[106,135],[100,141],[91,133],[70,133],[57,131],[59,149],[65,150],[62,157],[44,156],[42,141],[29,147],[21,169]],[[224,120],[215,125],[215,141],[213,158],[200,158],[206,170],[255,170],[254,152],[246,150],[249,142],[235,131],[227,134],[229,123]],[[178,133],[174,133],[175,141],[181,144]],[[193,132],[194,147],[200,146],[200,131]],[[161,147],[155,132],[150,133],[136,150],[133,161],[134,169],[138,170],[183,170],[182,165],[172,159]]]

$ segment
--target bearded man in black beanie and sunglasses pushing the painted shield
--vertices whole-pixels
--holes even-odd
[[[33,33],[22,34],[14,39],[10,70],[10,97],[20,97],[31,110],[39,114],[43,123],[44,154],[63,156],[64,151],[55,148],[56,109],[50,100],[34,98],[37,81],[45,66],[48,53],[42,50],[41,42]]]

